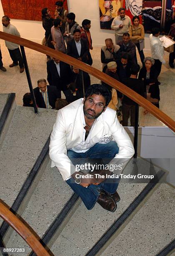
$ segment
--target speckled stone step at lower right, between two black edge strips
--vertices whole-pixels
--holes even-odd
[[[100,255],[157,255],[174,239],[174,220],[175,188],[162,183]]]

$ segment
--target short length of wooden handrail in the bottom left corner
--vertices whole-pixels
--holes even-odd
[[[7,206],[5,206],[2,200],[0,200],[0,217],[16,231],[26,241],[26,243],[28,243],[37,256],[50,256],[29,228],[27,228],[25,224],[18,219],[13,212],[7,208]]]

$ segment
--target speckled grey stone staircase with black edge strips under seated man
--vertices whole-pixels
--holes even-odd
[[[151,161],[131,159],[125,175],[153,174],[155,178],[144,183],[122,179],[117,190],[121,200],[114,213],[98,204],[88,211],[58,170],[50,168],[48,138],[57,111],[39,109],[36,115],[33,108],[16,106],[11,99],[5,113],[9,98],[0,95],[0,115],[5,119],[0,137],[0,198],[35,230],[50,253],[159,255],[173,241],[175,190],[165,182],[164,171]],[[20,256],[35,255],[5,223],[0,234],[7,248],[25,248]],[[167,249],[171,255],[173,247]]]

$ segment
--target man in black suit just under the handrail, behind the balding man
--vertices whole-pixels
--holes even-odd
[[[59,59],[53,58],[47,61],[47,81],[49,85],[56,86],[57,90],[67,90],[67,85],[70,84],[71,80],[71,69],[70,65]]]

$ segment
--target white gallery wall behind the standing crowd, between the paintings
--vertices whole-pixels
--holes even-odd
[[[75,13],[76,21],[81,25],[82,20],[88,18],[91,20],[92,27],[90,29],[92,35],[93,46],[104,45],[105,38],[112,38],[115,42],[114,31],[100,29],[100,14],[98,0],[67,0],[69,12]],[[0,1],[0,17],[4,15],[2,4]],[[42,41],[45,31],[42,28],[41,21],[32,20],[11,20],[11,23],[18,28],[21,37],[31,41]],[[0,27],[2,30],[2,25]],[[150,50],[148,35],[145,36],[145,51]]]

